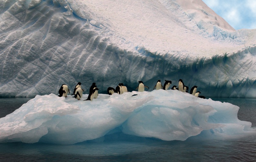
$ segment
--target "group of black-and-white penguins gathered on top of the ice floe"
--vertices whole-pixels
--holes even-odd
[[[170,86],[171,86],[171,81],[170,80],[165,80],[164,86],[162,86],[161,80],[158,80],[153,89],[154,90],[155,89],[156,90],[159,90],[159,89],[168,90],[168,88]],[[139,85],[135,90],[138,90],[138,92],[143,92],[143,91],[145,91],[145,88],[149,89],[149,87],[145,86],[142,81],[139,81]],[[92,83],[92,86],[90,87],[90,90],[89,90],[89,95],[88,95],[86,100],[92,101],[94,98],[97,98],[98,97],[98,90],[99,89],[97,88],[96,83]],[[172,86],[171,90],[179,90],[181,92],[188,93],[188,87],[184,85],[182,79],[179,79],[178,87],[177,86]],[[74,98],[76,98],[77,100],[80,100],[83,96],[83,92],[84,92],[84,90],[81,88],[81,82],[78,82],[76,87],[74,88],[73,94],[71,94],[71,95],[74,95]],[[109,94],[109,95],[112,95],[114,93],[123,94],[125,92],[128,92],[128,90],[127,90],[127,87],[124,86],[123,83],[119,83],[116,88],[113,88],[113,87],[108,87],[107,88],[107,94]],[[69,90],[69,88],[66,84],[62,84],[58,93],[59,93],[58,94],[59,97],[67,98],[67,94],[70,93],[70,90]],[[200,91],[197,91],[197,86],[193,86],[190,89],[190,94],[192,94],[196,97],[199,97],[199,98],[205,98],[204,96],[199,96],[200,93],[201,93]]]

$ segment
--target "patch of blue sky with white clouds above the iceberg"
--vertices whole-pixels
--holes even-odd
[[[202,0],[234,29],[256,29],[256,0]]]

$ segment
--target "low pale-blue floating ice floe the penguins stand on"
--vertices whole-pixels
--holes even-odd
[[[127,134],[171,141],[198,134],[209,139],[256,134],[250,122],[237,118],[238,106],[179,90],[99,94],[83,101],[86,98],[37,95],[0,119],[0,142],[74,144]]]

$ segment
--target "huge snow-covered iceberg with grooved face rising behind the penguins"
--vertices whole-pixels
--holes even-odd
[[[201,0],[0,0],[0,97],[183,79],[255,98],[255,55],[256,29],[235,31]]]

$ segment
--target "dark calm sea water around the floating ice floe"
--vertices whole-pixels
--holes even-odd
[[[12,113],[29,99],[0,98],[0,117]],[[212,99],[238,105],[238,118],[256,127],[256,99]],[[0,143],[0,161],[256,161],[256,135],[230,140],[188,138],[169,142],[134,138],[74,145]]]

